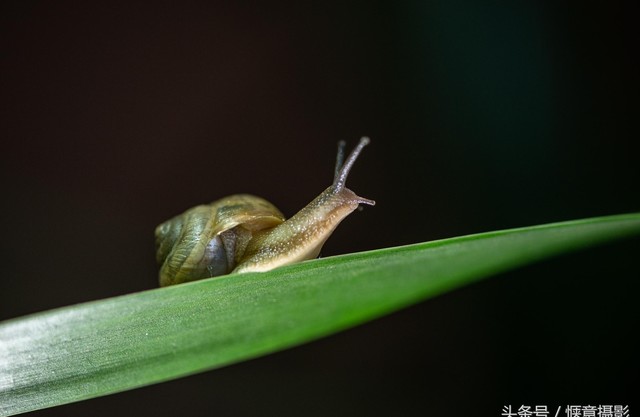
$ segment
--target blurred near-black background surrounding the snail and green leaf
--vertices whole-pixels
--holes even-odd
[[[621,4],[214,3],[2,2],[0,319],[155,287],[158,223],[237,192],[291,215],[362,135],[349,186],[378,205],[324,256],[640,210],[638,25]],[[630,404],[639,249],[34,415]]]

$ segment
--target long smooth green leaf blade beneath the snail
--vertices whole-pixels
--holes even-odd
[[[337,332],[481,278],[640,233],[640,213],[319,259],[0,324],[0,415],[201,372]]]

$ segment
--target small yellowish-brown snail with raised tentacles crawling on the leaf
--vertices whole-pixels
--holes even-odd
[[[363,137],[344,160],[338,143],[333,184],[289,220],[267,200],[236,194],[193,207],[155,230],[160,286],[229,273],[259,272],[313,259],[338,224],[360,204],[375,201],[345,187]]]

